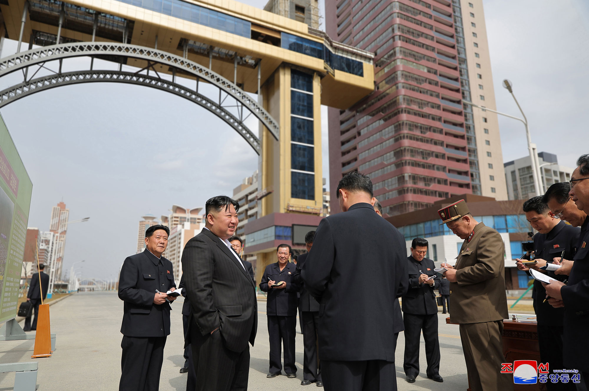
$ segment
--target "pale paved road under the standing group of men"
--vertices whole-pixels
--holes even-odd
[[[172,334],[164,351],[160,390],[184,391],[186,374],[178,371],[183,366],[183,335],[181,301],[174,304]],[[268,371],[268,332],[266,327],[266,302],[259,303],[259,327],[256,346],[251,349],[249,390],[272,388],[289,391],[315,389],[314,385],[303,387],[303,336],[296,336],[296,379],[278,376],[266,379]],[[118,387],[121,373],[121,317],[123,302],[115,292],[77,293],[51,306],[51,332],[57,333],[57,350],[52,357],[36,359],[39,362],[37,378],[39,391],[112,391]],[[297,326],[298,329],[298,326]],[[439,316],[439,340],[442,354],[440,374],[444,383],[435,383],[425,377],[425,347],[421,343],[420,363],[423,375],[413,384],[405,382],[403,373],[403,334],[397,346],[397,384],[399,390],[465,390],[466,366],[458,326],[446,324]],[[31,360],[34,341],[0,342],[0,363],[28,362]],[[0,391],[11,390],[14,373],[0,374]]]

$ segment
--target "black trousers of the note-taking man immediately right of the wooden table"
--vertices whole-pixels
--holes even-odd
[[[538,329],[538,346],[540,347],[540,362],[550,363],[548,370],[550,375],[554,373],[555,369],[564,369],[562,364],[562,326],[537,326]],[[570,368],[569,368],[570,369]],[[560,373],[556,374],[557,376]],[[552,383],[550,381],[544,383],[546,389],[549,391],[556,390],[571,390],[577,389],[575,383]]]

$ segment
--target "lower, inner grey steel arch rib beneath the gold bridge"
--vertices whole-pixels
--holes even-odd
[[[172,94],[183,97],[191,102],[194,102],[201,107],[206,108],[219,118],[227,122],[234,130],[236,130],[247,143],[249,143],[254,151],[260,154],[260,140],[255,134],[218,102],[205,97],[197,91],[191,90],[183,85],[168,81],[166,79],[147,76],[143,74],[123,71],[74,71],[64,72],[62,74],[49,75],[39,77],[36,79],[29,79],[21,84],[14,85],[0,91],[0,108],[5,105],[35,94],[35,92],[47,91],[51,88],[61,87],[64,85],[74,85],[89,82],[120,82],[135,85],[143,85],[145,87],[155,88],[157,90],[171,92]]]

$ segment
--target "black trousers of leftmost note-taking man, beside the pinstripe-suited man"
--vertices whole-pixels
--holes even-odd
[[[166,337],[123,336],[119,391],[158,391]]]

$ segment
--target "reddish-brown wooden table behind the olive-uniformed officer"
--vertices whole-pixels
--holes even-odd
[[[450,318],[446,318],[446,323]],[[538,329],[535,322],[521,322],[505,319],[503,321],[503,356],[506,363],[515,360],[535,360],[540,363],[540,349],[538,347]],[[470,383],[470,381],[469,381]],[[470,391],[470,384],[468,391]],[[514,384],[514,391],[545,391],[546,385],[536,383],[532,385]]]

